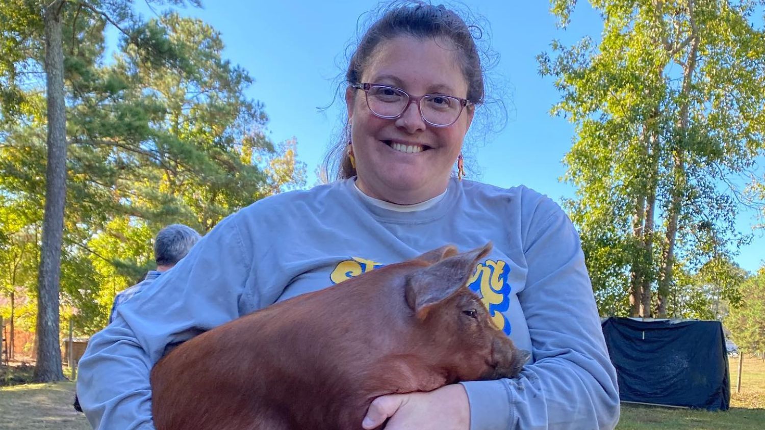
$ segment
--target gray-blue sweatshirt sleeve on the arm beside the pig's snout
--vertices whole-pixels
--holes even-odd
[[[463,383],[470,430],[611,429],[619,420],[610,362],[579,236],[554,206],[529,226],[519,302],[534,363],[519,377]]]

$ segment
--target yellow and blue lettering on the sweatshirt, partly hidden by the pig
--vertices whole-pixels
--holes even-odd
[[[332,283],[340,283],[382,266],[384,264],[373,260],[353,257],[352,260],[337,263],[330,278]],[[510,322],[505,316],[510,306],[511,288],[507,282],[509,273],[510,267],[503,260],[486,260],[476,265],[476,270],[467,280],[467,287],[480,296],[492,322],[506,335],[510,335]]]

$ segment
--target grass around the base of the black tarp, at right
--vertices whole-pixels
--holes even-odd
[[[731,357],[728,412],[670,409],[622,403],[617,430],[759,430],[765,423],[765,361],[744,358],[741,393],[736,393],[738,357]]]

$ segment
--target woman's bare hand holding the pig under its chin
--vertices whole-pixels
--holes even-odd
[[[362,426],[376,428],[389,417],[386,430],[468,430],[470,404],[458,383],[430,393],[379,396],[369,405]]]

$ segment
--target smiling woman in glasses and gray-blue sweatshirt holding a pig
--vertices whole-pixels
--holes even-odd
[[[532,362],[513,380],[379,397],[363,428],[388,418],[388,430],[613,428],[616,375],[571,222],[525,187],[451,177],[483,101],[464,21],[442,6],[397,5],[366,31],[346,78],[340,180],[229,216],[120,307],[80,362],[91,424],[153,428],[148,375],[172,344],[443,244],[490,240],[470,288]]]

